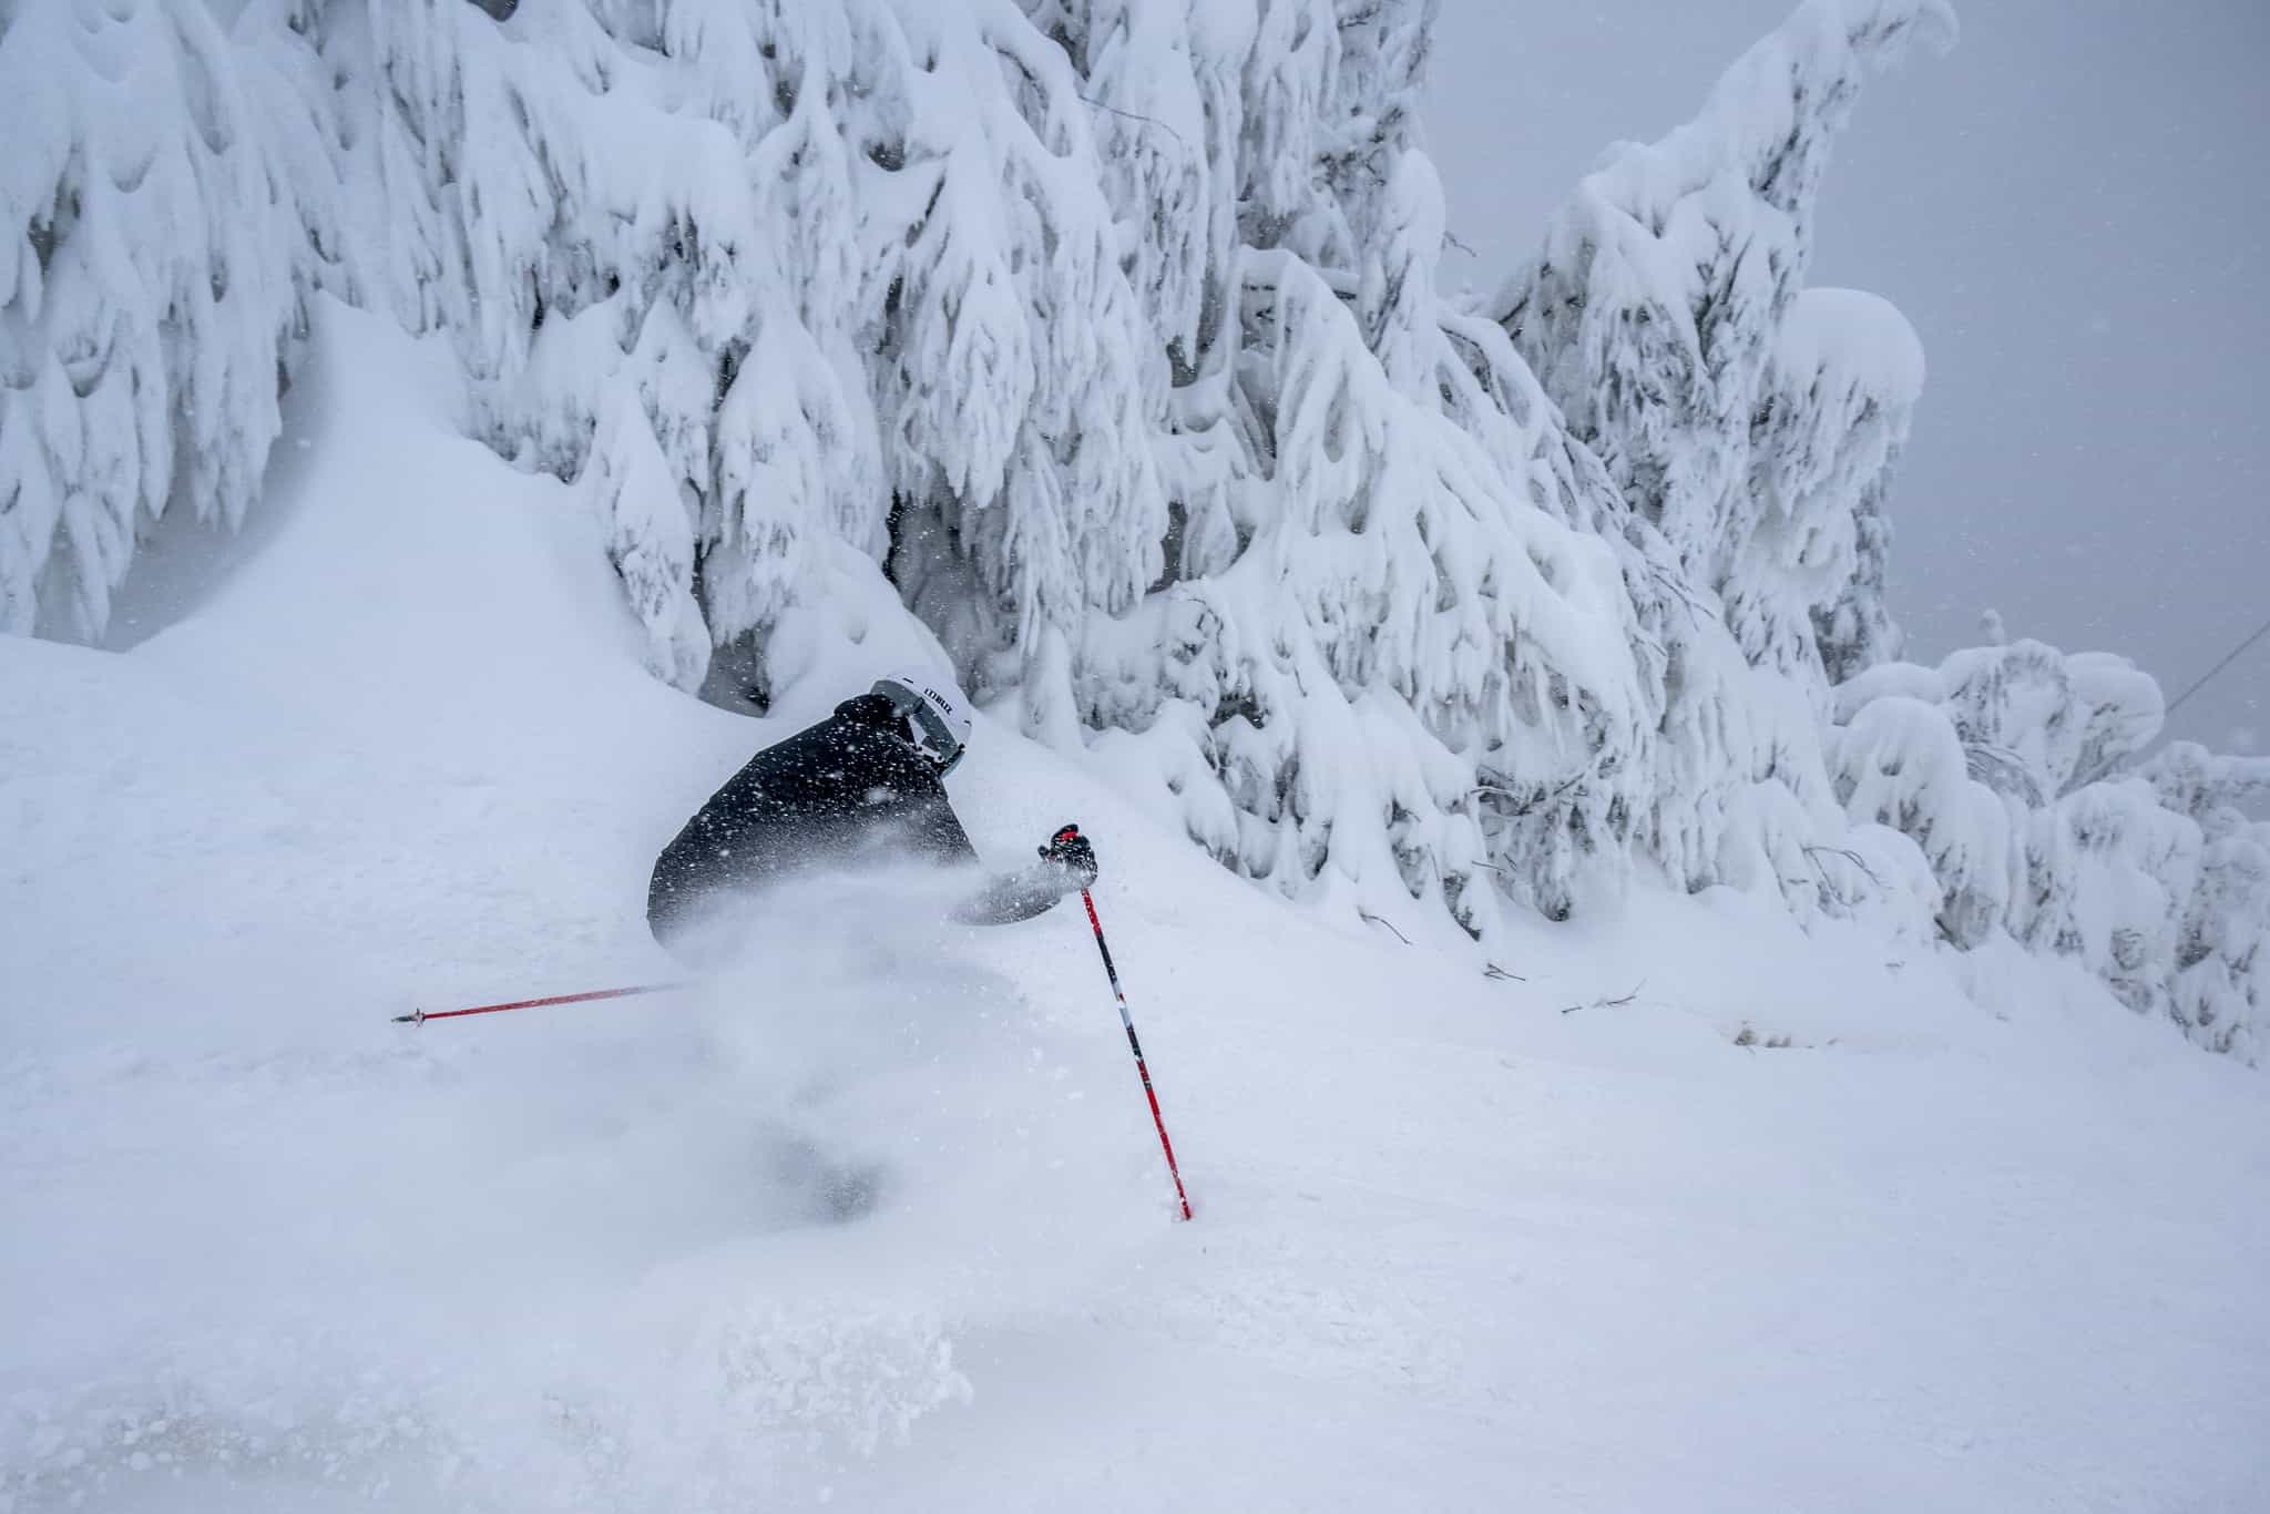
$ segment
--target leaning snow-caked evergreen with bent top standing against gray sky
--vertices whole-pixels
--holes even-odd
[[[1875,590],[1848,586],[1880,577],[1882,490],[1923,384],[1889,304],[1805,291],[1814,200],[1868,73],[1952,32],[1941,0],[1802,5],[1693,123],[1614,150],[1496,302],[1750,661],[1807,681],[1816,615],[1839,667],[1889,642]]]

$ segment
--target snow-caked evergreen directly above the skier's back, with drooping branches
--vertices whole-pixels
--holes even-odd
[[[386,188],[372,284],[454,338],[495,445],[586,481],[649,665],[688,688],[824,592],[829,542],[881,554],[849,179],[892,111],[854,89],[858,20],[422,0],[340,48]]]

